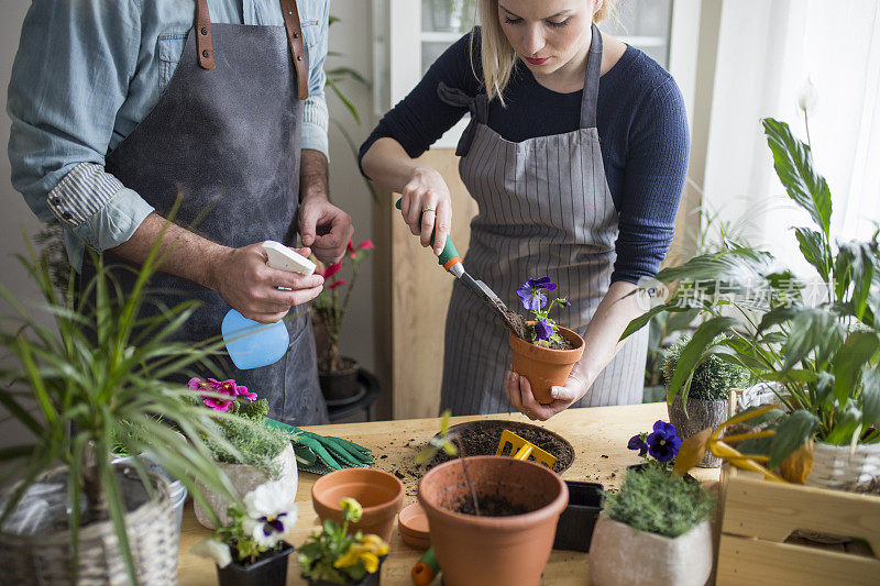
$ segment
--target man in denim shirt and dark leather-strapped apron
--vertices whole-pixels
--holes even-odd
[[[261,322],[299,313],[278,363],[205,374],[235,378],[298,425],[327,420],[308,313],[295,307],[322,279],[270,268],[260,243],[290,245],[298,232],[333,263],[352,235],[328,201],[328,10],[327,0],[34,0],[9,87],[13,186],[64,225],[81,281],[95,274],[86,246],[141,264],[179,200],[151,287],[167,305],[201,301],[187,339],[218,335],[230,307]],[[124,267],[114,276],[133,284]]]

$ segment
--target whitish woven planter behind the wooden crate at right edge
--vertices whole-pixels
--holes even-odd
[[[848,445],[813,444],[813,468],[807,486],[842,488],[868,484],[880,476],[880,443],[859,443],[855,451]]]

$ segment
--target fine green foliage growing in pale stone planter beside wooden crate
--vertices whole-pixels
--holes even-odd
[[[698,483],[671,476],[663,466],[628,469],[618,491],[605,496],[605,511],[615,521],[668,538],[682,535],[705,521],[715,506]]]

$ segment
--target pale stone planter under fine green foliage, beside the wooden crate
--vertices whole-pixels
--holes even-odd
[[[595,586],[703,586],[712,574],[712,530],[703,521],[671,539],[600,517],[590,544]]]

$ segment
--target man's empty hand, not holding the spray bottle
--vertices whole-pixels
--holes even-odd
[[[351,217],[326,197],[315,195],[299,203],[302,245],[310,246],[321,263],[332,265],[339,262],[353,234]]]

